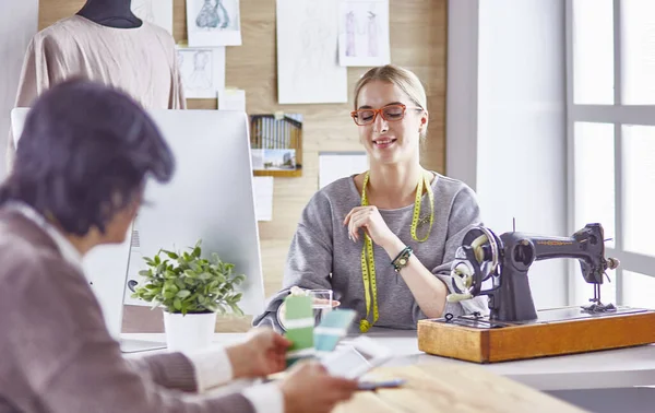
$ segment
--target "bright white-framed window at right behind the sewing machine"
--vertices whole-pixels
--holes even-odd
[[[567,96],[570,233],[602,223],[621,261],[605,303],[655,308],[655,1],[567,0]]]

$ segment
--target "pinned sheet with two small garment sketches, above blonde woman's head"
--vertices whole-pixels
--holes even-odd
[[[341,66],[391,62],[389,0],[342,0],[338,11]]]

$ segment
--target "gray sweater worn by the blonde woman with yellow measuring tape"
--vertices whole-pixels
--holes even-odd
[[[389,228],[412,247],[419,261],[450,288],[451,261],[466,232],[481,225],[479,208],[474,191],[465,184],[437,174],[432,180],[434,192],[434,223],[428,240],[415,241],[410,235],[414,204],[397,210],[380,210]],[[361,276],[361,248],[364,237],[353,243],[348,239],[344,217],[360,205],[353,177],[342,178],[319,190],[309,201],[291,241],[284,272],[283,288],[266,305],[264,312],[253,320],[254,326],[282,327],[277,308],[291,286],[301,288],[332,288],[341,308],[355,309],[355,323],[366,316],[366,299]],[[429,216],[427,193],[421,200],[420,217]],[[417,237],[424,238],[429,221],[419,224]],[[426,318],[414,295],[396,275],[391,259],[379,246],[373,246],[378,308],[380,318],[374,324],[395,329],[415,329],[418,320]],[[445,311],[453,315],[473,311],[488,312],[486,297],[475,297],[461,303],[446,303]],[[372,321],[372,304],[371,316]],[[354,324],[353,331],[356,331]]]

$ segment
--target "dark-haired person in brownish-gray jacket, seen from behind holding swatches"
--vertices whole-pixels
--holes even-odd
[[[199,354],[122,358],[82,257],[122,243],[147,178],[168,181],[175,164],[126,94],[81,80],[53,86],[29,111],[16,160],[0,186],[0,411],[326,412],[356,389],[305,364],[242,393],[182,396],[284,369],[290,343],[271,330]]]

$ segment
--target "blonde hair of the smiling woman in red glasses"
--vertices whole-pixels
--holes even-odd
[[[412,71],[395,64],[386,64],[372,68],[364,73],[361,79],[355,85],[355,110],[357,110],[357,97],[361,87],[371,81],[382,81],[393,83],[401,88],[416,106],[428,110],[428,99],[426,90],[420,80]]]

